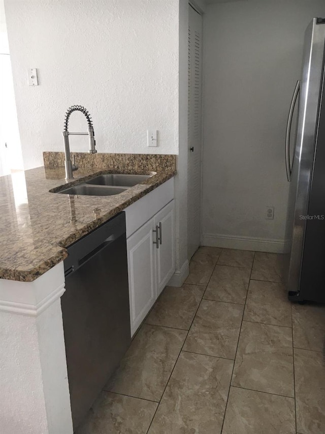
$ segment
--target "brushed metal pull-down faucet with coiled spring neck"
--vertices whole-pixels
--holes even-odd
[[[87,133],[70,133],[68,131],[69,118],[70,118],[70,115],[73,111],[81,111],[85,115],[87,122],[88,122],[88,132]],[[73,159],[73,163],[71,162],[71,159],[70,159],[69,136],[70,135],[89,135],[89,144],[90,144],[89,153],[95,154],[97,152],[95,149],[96,142],[95,142],[95,138],[94,138],[92,121],[91,121],[91,118],[90,118],[88,111],[84,107],[82,107],[81,105],[72,105],[71,107],[68,108],[68,110],[66,111],[66,115],[64,117],[64,125],[63,125],[62,135],[63,135],[63,141],[64,141],[64,154],[66,156],[66,159],[64,160],[64,166],[66,167],[66,179],[73,179],[73,172],[78,169],[78,166],[75,164],[74,159]]]

